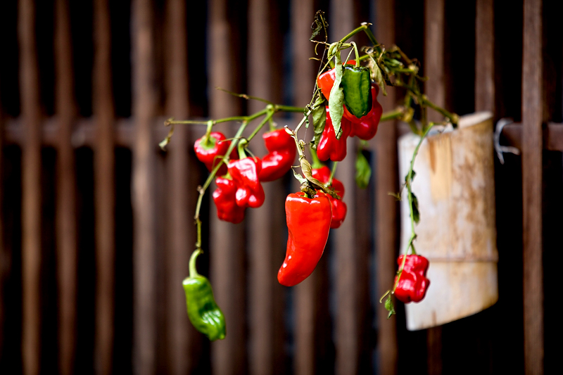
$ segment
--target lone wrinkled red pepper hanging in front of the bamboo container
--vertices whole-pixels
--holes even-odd
[[[403,256],[397,259],[397,264],[403,264]],[[405,267],[400,275],[399,284],[395,289],[395,296],[403,303],[420,302],[426,295],[430,280],[426,279],[429,262],[422,255],[407,255]],[[397,281],[397,277],[395,277]]]

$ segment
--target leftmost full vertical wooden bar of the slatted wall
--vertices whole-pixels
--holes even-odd
[[[41,124],[33,0],[18,3],[23,144],[23,372],[39,374],[41,358]]]

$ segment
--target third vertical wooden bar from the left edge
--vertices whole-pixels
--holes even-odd
[[[113,364],[115,262],[115,153],[111,82],[111,32],[108,0],[94,1],[94,152],[96,210],[96,374],[110,374]]]

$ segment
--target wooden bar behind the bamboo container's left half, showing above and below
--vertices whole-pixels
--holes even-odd
[[[424,75],[430,77],[424,91],[431,101],[445,106],[444,74],[444,0],[427,0],[424,3]],[[443,120],[439,113],[429,111],[429,121]],[[442,328],[427,330],[428,374],[442,373]]]

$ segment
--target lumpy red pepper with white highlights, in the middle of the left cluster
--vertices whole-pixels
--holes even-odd
[[[229,174],[236,186],[236,204],[240,207],[258,208],[264,203],[264,189],[258,179],[262,169],[260,158],[243,158],[229,162]]]

